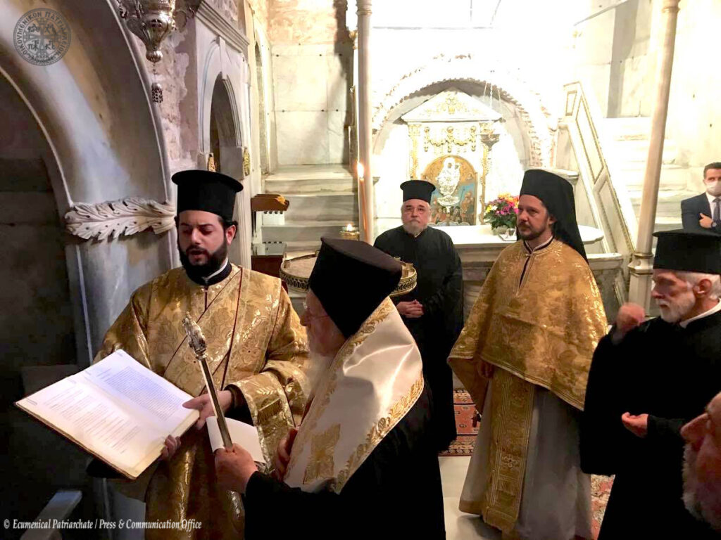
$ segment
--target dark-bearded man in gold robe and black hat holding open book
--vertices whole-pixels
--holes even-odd
[[[211,171],[181,171],[173,181],[178,185],[183,267],[133,293],[95,361],[122,348],[196,396],[184,406],[200,410],[200,420],[181,438],[169,436],[162,459],[138,480],[116,480],[115,485],[125,495],[145,500],[146,521],[200,523],[190,531],[149,528],[146,539],[241,539],[241,500],[218,488],[208,434],[200,429],[213,413],[182,318],[190,312],[198,321],[221,405],[255,425],[267,463],[305,407],[306,332],[279,279],[228,261],[241,184]]]

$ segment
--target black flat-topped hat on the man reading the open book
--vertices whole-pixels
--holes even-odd
[[[200,169],[179,171],[172,181],[178,186],[178,215],[184,210],[203,210],[233,220],[235,195],[243,189],[236,179]]]

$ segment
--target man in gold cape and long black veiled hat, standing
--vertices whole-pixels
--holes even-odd
[[[578,429],[606,315],[565,179],[526,171],[518,236],[449,357],[482,411],[460,508],[503,539],[590,539]]]

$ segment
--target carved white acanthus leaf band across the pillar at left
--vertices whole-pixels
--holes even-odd
[[[72,235],[105,240],[133,235],[152,228],[156,235],[174,227],[175,207],[140,197],[89,204],[79,202],[65,215],[65,228]]]

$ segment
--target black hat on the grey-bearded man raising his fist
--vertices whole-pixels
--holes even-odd
[[[658,238],[653,268],[721,274],[721,237],[702,230],[664,230]]]

